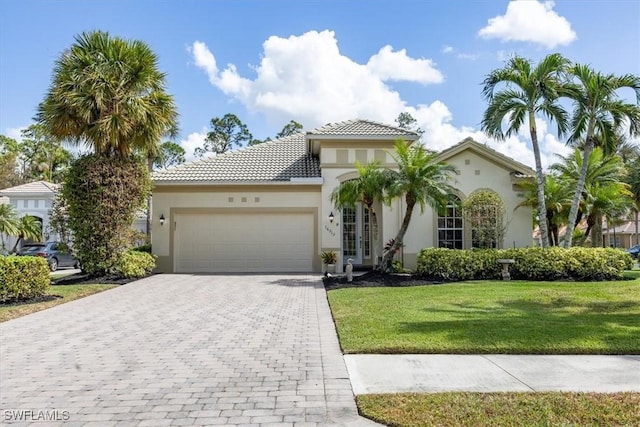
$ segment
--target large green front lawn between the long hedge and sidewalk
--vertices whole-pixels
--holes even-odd
[[[640,279],[330,291],[345,353],[640,353]]]

